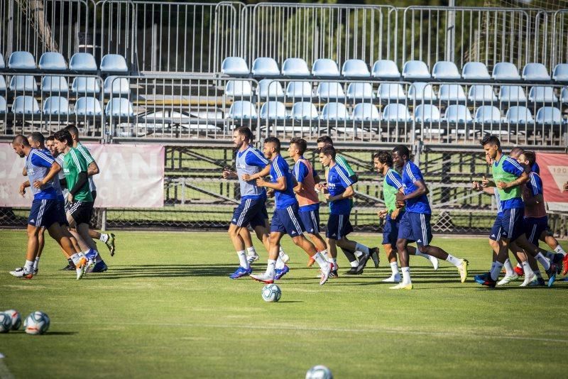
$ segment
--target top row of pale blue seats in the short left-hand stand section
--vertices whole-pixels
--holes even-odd
[[[5,70],[6,64],[4,57],[0,54],[0,70]],[[126,73],[129,72],[126,60],[119,54],[107,54],[102,57],[101,64],[97,67],[92,54],[89,53],[75,53],[69,61],[67,69],[67,62],[60,53],[48,52],[43,53],[40,57],[38,66],[35,66],[35,57],[28,51],[15,51],[11,53],[8,60],[9,70],[18,71],[45,71],[45,72],[64,72],[67,70],[73,72],[100,72],[111,73]]]

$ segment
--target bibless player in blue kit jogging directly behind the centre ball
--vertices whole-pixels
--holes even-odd
[[[268,251],[266,273],[251,275],[251,278],[259,282],[274,282],[275,263],[278,258],[280,239],[287,233],[292,237],[292,241],[294,241],[296,246],[302,248],[309,256],[314,257],[315,261],[320,265],[322,269],[320,285],[324,285],[329,279],[332,265],[325,260],[321,253],[317,252],[315,246],[303,235],[302,221],[300,221],[300,216],[297,214],[298,203],[294,194],[294,180],[288,163],[280,155],[280,140],[275,137],[266,138],[264,140],[263,153],[266,158],[271,160],[271,182],[258,178],[256,185],[274,189],[275,209],[271,223],[271,245],[270,251]]]

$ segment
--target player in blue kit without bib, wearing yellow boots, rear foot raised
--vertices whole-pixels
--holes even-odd
[[[396,206],[398,208],[406,207],[406,212],[400,219],[396,241],[398,258],[403,271],[403,281],[391,287],[391,289],[413,289],[408,265],[408,243],[410,242],[416,242],[420,253],[452,263],[459,272],[461,282],[465,282],[469,262],[466,259],[456,258],[446,253],[442,248],[430,245],[430,241],[432,241],[432,229],[430,228],[432,210],[426,197],[428,187],[420,168],[410,160],[410,150],[406,146],[398,145],[393,149],[393,164],[395,167],[400,167],[403,172],[404,192],[396,193]]]

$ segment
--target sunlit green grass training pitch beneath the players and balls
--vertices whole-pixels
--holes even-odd
[[[316,364],[336,378],[560,377],[568,370],[568,282],[552,288],[481,288],[486,238],[435,238],[470,261],[470,276],[413,258],[413,291],[388,290],[390,268],[341,275],[320,287],[316,268],[285,238],[290,273],[278,303],[262,285],[229,280],[236,254],[222,233],[117,233],[117,253],[100,246],[109,271],[75,280],[49,240],[33,280],[12,278],[26,234],[0,231],[0,310],[46,312],[43,336],[0,334],[0,377],[303,378]],[[378,235],[354,235],[376,246]],[[568,243],[563,242],[564,248]],[[256,271],[263,271],[266,254]],[[4,368],[2,367],[4,363]]]

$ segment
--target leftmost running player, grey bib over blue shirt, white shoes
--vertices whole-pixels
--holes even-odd
[[[43,227],[48,229],[50,236],[59,243],[67,257],[73,260],[77,267],[77,280],[81,279],[87,268],[87,258],[75,250],[59,224],[62,215],[57,204],[53,178],[61,170],[60,165],[43,151],[31,148],[27,138],[21,134],[13,138],[12,147],[20,158],[26,158],[26,172],[31,183],[33,202],[28,216],[26,264],[11,271],[10,274],[16,278],[33,278],[33,263],[38,252],[38,234]]]

